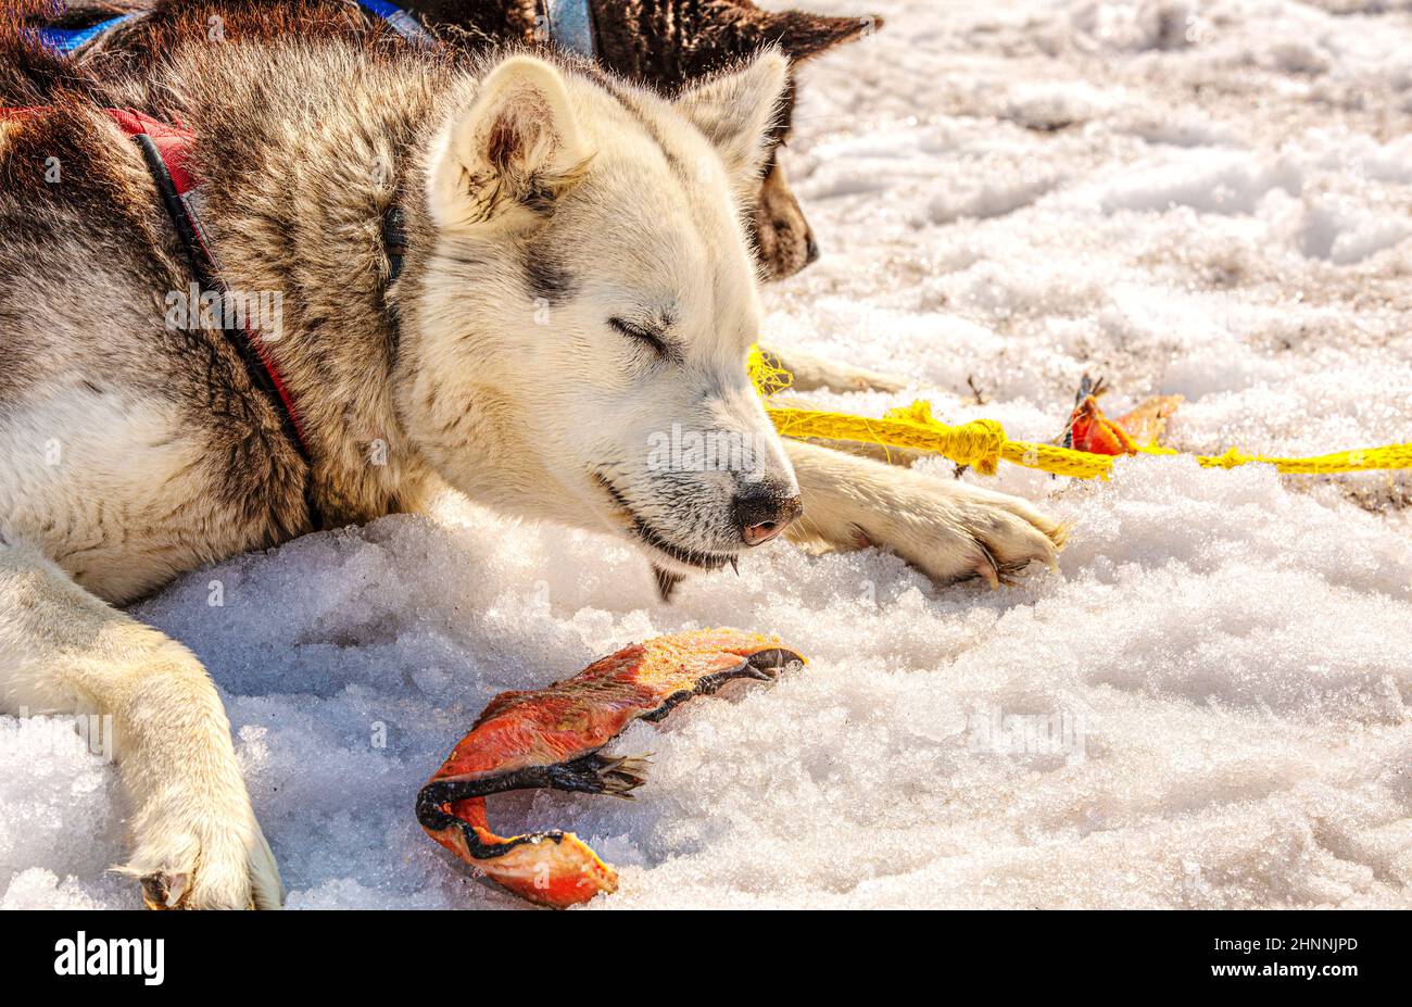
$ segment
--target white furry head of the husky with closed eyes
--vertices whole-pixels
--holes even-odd
[[[746,83],[707,88],[690,105],[699,116],[713,109],[730,144],[744,143],[724,127],[733,119],[758,143],[768,121],[760,106],[774,107],[784,85],[777,64],[761,56],[736,75]],[[724,556],[740,548],[730,507],[743,487],[765,480],[796,491],[744,367],[761,318],[754,264],[723,151],[662,99],[644,90],[633,102],[630,112],[586,81],[518,56],[446,124],[428,198],[438,220],[455,223],[441,230],[417,305],[419,342],[405,357],[400,412],[436,472],[470,496],[576,524],[589,516],[623,532],[630,518],[606,494],[607,479],[674,545]],[[477,181],[480,144],[507,117],[532,141],[517,177],[535,165],[572,175],[538,225],[514,206],[481,213],[494,181]],[[573,278],[561,304],[527,297],[511,240],[527,229]],[[480,264],[474,284],[460,275],[466,260]],[[614,330],[614,318],[669,319],[671,359]],[[674,424],[748,443],[757,465],[654,473],[650,446]],[[654,561],[682,566],[665,554]]]

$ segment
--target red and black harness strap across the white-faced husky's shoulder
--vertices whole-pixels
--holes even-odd
[[[42,107],[0,107],[0,121],[23,120],[44,112],[47,109]],[[222,305],[229,304],[230,288],[220,278],[219,263],[193,206],[192,196],[196,192],[198,179],[188,167],[192,144],[191,131],[181,123],[164,123],[130,109],[104,109],[104,112],[143,151],[143,158],[147,161],[148,171],[152,172],[152,181],[157,184],[157,191],[172,226],[191,257],[198,285],[202,291],[215,292]],[[254,384],[274,403],[289,439],[312,469],[308,441],[304,435],[304,425],[299,422],[299,414],[294,407],[294,397],[280,377],[280,370],[264,345],[264,336],[251,329],[249,315],[243,322],[243,332],[239,333],[225,325],[222,328],[246,363]]]

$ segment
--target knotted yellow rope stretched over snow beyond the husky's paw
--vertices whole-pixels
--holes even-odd
[[[1027,469],[1041,469],[1076,479],[1093,479],[1094,476],[1107,479],[1113,469],[1111,455],[1094,455],[1052,443],[1011,441],[1005,436],[1005,429],[994,419],[973,419],[959,427],[947,427],[932,417],[932,405],[925,400],[918,400],[904,408],[888,410],[881,419],[856,417],[847,412],[771,405],[770,397],[788,388],[792,377],[758,347],[750,352],[750,376],[760,394],[767,400],[765,412],[770,414],[782,436],[857,441],[887,448],[926,451],[945,455],[960,465],[969,465],[987,476],[995,475],[995,466],[1001,459]],[[1179,455],[1182,452],[1152,446],[1145,448],[1144,453]],[[1412,469],[1412,443],[1357,448],[1316,458],[1244,455],[1234,448],[1224,455],[1196,455],[1195,458],[1199,465],[1209,469],[1234,469],[1237,465],[1262,462],[1274,465],[1279,472],[1300,475],[1372,472]]]

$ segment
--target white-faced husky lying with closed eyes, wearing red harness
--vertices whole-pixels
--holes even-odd
[[[195,131],[223,280],[281,294],[256,339],[294,435],[232,333],[174,321],[193,267],[138,145],[92,95],[7,85],[47,107],[0,121],[0,701],[112,715],[148,904],[282,898],[206,671],[119,607],[202,564],[446,483],[627,537],[666,586],[782,530],[943,582],[1052,556],[1024,501],[771,429],[737,196],[785,75],[668,102],[515,54],[174,51],[150,95]],[[674,427],[751,462],[654,465]]]

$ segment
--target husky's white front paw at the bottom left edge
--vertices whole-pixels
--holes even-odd
[[[186,789],[186,788],[174,788]],[[120,867],[150,910],[278,910],[284,887],[241,794],[165,792],[137,815],[137,847]]]

